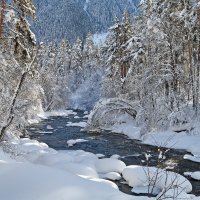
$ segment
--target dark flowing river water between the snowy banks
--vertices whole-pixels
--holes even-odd
[[[158,148],[144,145],[140,141],[129,139],[127,136],[118,133],[110,133],[102,131],[101,133],[81,131],[81,127],[68,127],[68,122],[87,121],[83,111],[74,110],[77,113],[67,117],[49,117],[42,120],[39,124],[33,124],[27,127],[29,135],[32,139],[37,139],[40,142],[47,143],[50,147],[56,150],[84,150],[95,154],[104,154],[105,157],[110,157],[114,154],[120,155],[120,159],[126,165],[147,165],[145,153],[151,154],[148,165],[160,166],[158,163]],[[50,125],[50,126],[48,126]],[[52,127],[53,129],[49,129]],[[67,145],[67,141],[71,139],[85,139],[87,142],[77,143],[72,147]],[[166,159],[162,166],[173,168],[172,171],[183,174],[187,171],[199,170],[199,164],[183,159],[184,150],[169,150],[166,153]],[[129,186],[122,184],[123,180],[115,182],[122,192],[132,194]],[[193,185],[193,194],[200,195],[200,181],[190,180]]]

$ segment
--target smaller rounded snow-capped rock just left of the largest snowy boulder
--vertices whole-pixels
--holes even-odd
[[[119,172],[121,173],[126,167],[121,160],[113,158],[104,158],[95,162],[95,167],[98,173]]]

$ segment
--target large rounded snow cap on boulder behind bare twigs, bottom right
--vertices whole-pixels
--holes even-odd
[[[165,188],[171,189],[174,187],[186,193],[192,191],[192,185],[185,177],[156,167],[132,165],[124,168],[122,175],[129,186],[133,188],[150,185],[161,191]]]

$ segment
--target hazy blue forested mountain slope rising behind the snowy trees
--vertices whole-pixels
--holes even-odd
[[[137,10],[138,0],[34,0],[37,21],[32,29],[39,40],[85,38],[88,32],[106,31],[116,16]]]

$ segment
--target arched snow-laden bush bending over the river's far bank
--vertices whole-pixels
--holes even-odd
[[[119,98],[100,100],[89,115],[86,129],[108,128],[115,123],[125,123],[122,115],[134,120],[137,115],[135,106]]]

